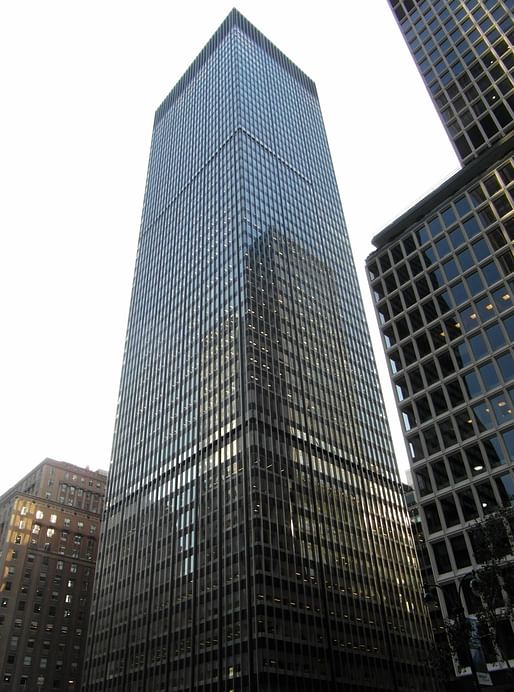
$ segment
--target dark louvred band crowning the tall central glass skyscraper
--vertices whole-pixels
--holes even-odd
[[[314,81],[308,77],[299,67],[297,67],[281,50],[279,50],[264,34],[262,34],[251,22],[246,19],[236,8],[232,9],[222,22],[216,33],[211,37],[205,47],[200,51],[197,57],[193,60],[182,77],[166,96],[164,101],[155,111],[154,126],[157,125],[164,117],[170,105],[180,96],[191,79],[196,75],[213,51],[226,38],[228,33],[239,28],[253,41],[258,43],[268,54],[282,65],[291,75],[293,75],[300,83],[302,83],[312,94],[317,95],[316,85]]]

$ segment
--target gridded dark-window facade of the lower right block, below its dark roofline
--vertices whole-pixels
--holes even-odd
[[[384,231],[368,260],[439,575],[476,566],[464,528],[514,496],[514,165],[476,169],[426,200],[423,222],[415,208]]]

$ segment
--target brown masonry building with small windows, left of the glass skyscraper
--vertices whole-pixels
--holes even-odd
[[[80,690],[106,474],[45,459],[0,497],[0,690]]]

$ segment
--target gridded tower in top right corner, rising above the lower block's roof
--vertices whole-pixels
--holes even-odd
[[[389,0],[460,160],[512,131],[512,0]]]

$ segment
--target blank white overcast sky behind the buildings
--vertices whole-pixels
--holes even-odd
[[[153,114],[231,8],[0,3],[0,494],[47,456],[109,465]],[[317,84],[376,335],[371,238],[456,158],[386,0],[237,8]]]

